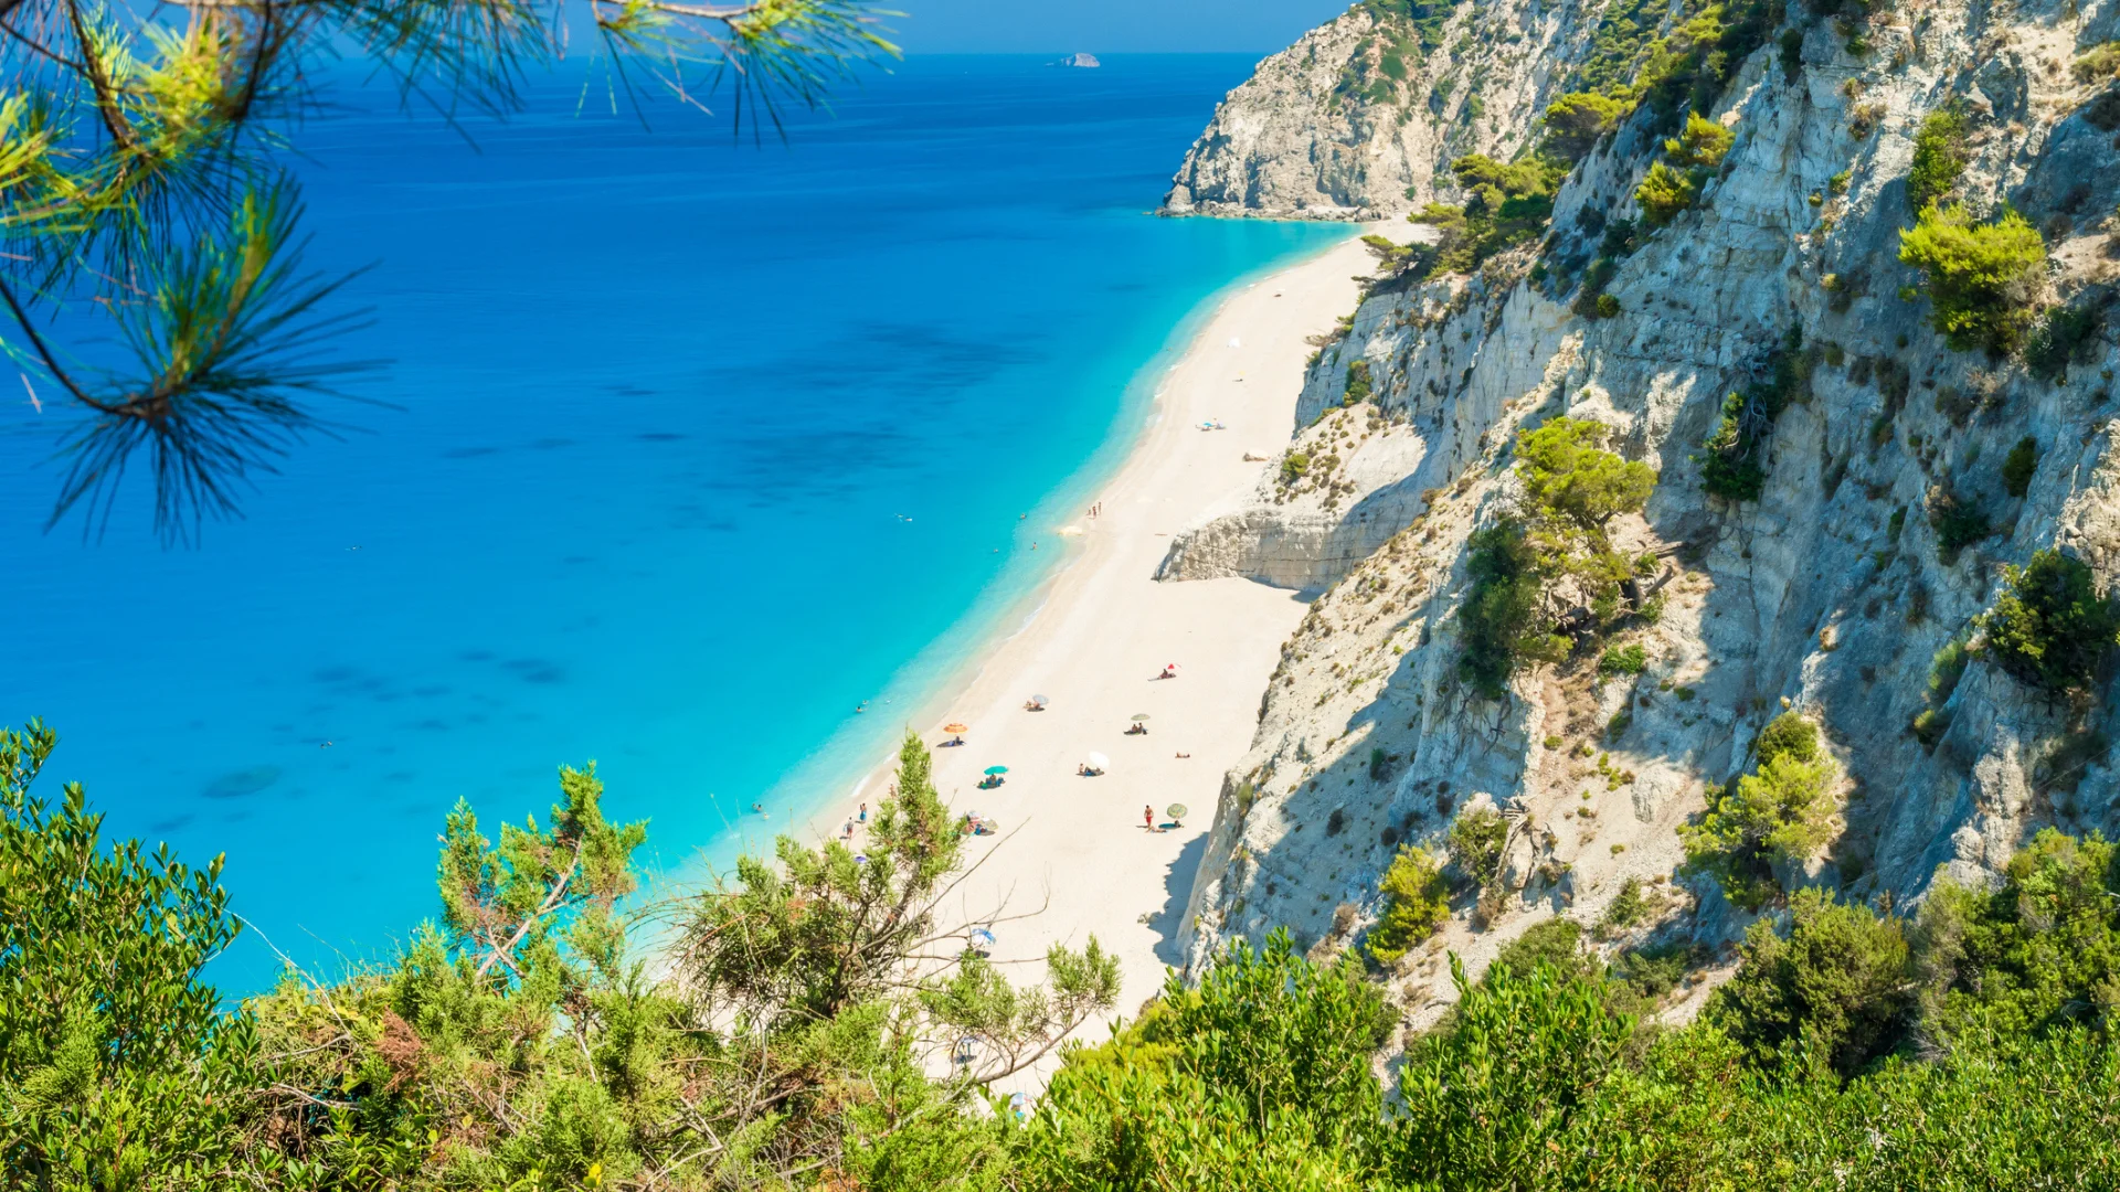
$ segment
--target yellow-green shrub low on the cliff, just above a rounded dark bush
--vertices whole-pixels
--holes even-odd
[[[1715,878],[1736,906],[1760,910],[1781,893],[1777,863],[1808,861],[1825,846],[1836,776],[1830,757],[1783,755],[1757,774],[1711,789],[1700,823],[1679,827],[1688,870]]]

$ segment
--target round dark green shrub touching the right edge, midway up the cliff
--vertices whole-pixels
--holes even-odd
[[[2090,683],[2120,643],[2120,602],[2099,596],[2090,568],[2044,549],[2006,566],[1995,607],[1980,615],[1982,653],[2029,687],[2063,691]]]

